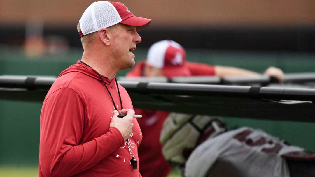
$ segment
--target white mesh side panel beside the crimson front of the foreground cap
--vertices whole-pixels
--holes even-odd
[[[115,7],[108,2],[96,4],[95,18],[99,29],[107,28],[122,21]]]

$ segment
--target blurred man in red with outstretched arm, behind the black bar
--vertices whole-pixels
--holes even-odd
[[[281,69],[269,67],[266,75],[276,77],[282,82],[284,74]],[[259,75],[246,69],[228,66],[212,66],[186,61],[185,49],[177,42],[163,40],[154,43],[148,50],[146,61],[138,62],[135,67],[127,73],[127,77],[138,76],[192,76],[192,75],[217,75],[225,76],[250,76]],[[144,117],[138,120],[143,133],[143,139],[139,150],[139,158],[143,164],[140,173],[143,177],[167,176],[172,167],[168,164],[162,154],[160,134],[164,120],[169,112],[135,109],[136,114]]]

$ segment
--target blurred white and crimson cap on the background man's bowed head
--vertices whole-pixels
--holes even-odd
[[[168,78],[192,75],[186,67],[185,49],[175,41],[163,40],[154,43],[149,48],[146,62],[161,68]]]

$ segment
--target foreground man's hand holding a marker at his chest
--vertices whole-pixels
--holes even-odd
[[[119,113],[125,113],[127,114],[123,118],[117,117]],[[113,111],[113,117],[111,120],[111,123],[109,124],[110,127],[116,127],[120,133],[123,135],[123,139],[126,141],[132,132],[132,128],[134,124],[132,123],[132,120],[134,119],[135,111],[132,109],[123,109],[121,111],[114,110]]]

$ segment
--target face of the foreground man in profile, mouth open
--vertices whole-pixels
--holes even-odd
[[[141,37],[136,31],[136,27],[117,24],[110,29],[112,33],[112,52],[117,59],[117,65],[121,69],[127,69],[135,65],[135,55],[132,53],[136,49],[136,44],[141,42]]]

